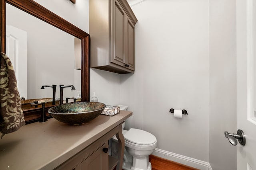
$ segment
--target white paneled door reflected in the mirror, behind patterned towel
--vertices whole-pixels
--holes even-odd
[[[27,99],[27,32],[6,25],[6,55],[10,58],[20,97]]]

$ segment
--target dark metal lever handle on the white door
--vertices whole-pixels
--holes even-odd
[[[228,138],[228,141],[232,145],[237,145],[236,139],[238,139],[238,142],[241,145],[245,145],[245,136],[244,136],[244,132],[241,129],[237,130],[237,134],[235,134],[235,133],[228,133],[227,131],[225,131],[224,135],[225,135],[226,138]]]

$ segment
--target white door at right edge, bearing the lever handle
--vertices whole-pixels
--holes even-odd
[[[236,0],[236,22],[237,129],[246,137],[237,170],[256,170],[256,0]]]

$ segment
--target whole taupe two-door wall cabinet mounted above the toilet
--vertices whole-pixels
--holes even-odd
[[[90,67],[134,73],[134,25],[138,21],[126,0],[90,0]]]

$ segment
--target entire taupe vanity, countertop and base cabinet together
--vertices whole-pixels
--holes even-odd
[[[122,123],[130,116],[131,111],[121,110],[83,125],[66,125],[54,118],[25,125],[1,139],[0,170],[122,170]],[[114,135],[118,139],[117,159],[107,150]]]

